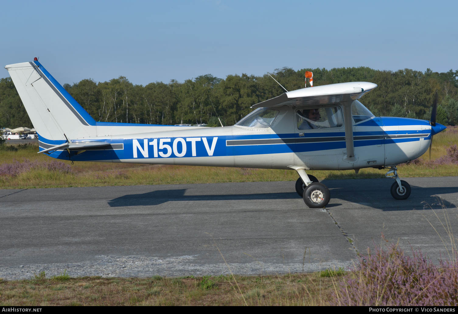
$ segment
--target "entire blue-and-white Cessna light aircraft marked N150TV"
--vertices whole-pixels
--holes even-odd
[[[358,101],[377,85],[338,83],[286,92],[251,106],[231,127],[96,122],[35,58],[5,66],[37,130],[39,153],[71,161],[292,169],[296,192],[322,208],[328,188],[308,170],[389,169],[396,199],[410,195],[398,164],[426,152],[445,129],[425,120],[376,117]],[[309,78],[311,78],[309,76]],[[437,98],[436,98],[437,103]]]

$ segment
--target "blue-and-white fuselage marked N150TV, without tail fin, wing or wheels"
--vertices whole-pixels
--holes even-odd
[[[349,163],[344,160],[344,127],[301,131],[291,122],[291,109],[279,111],[273,125],[266,129],[196,127],[74,139],[73,142],[104,141],[110,145],[70,150],[70,156],[65,149],[57,150],[50,156],[72,161],[271,169],[305,165],[311,170],[346,170],[398,165],[414,160],[425,153],[431,139],[428,121],[373,117],[354,125],[357,160]],[[104,126],[98,128],[103,129]],[[125,131],[135,129],[134,126],[116,127],[117,132],[123,133],[122,128]],[[47,143],[46,139],[40,137],[40,150],[55,144]],[[85,151],[79,153],[82,150]]]

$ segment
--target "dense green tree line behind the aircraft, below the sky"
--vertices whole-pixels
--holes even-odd
[[[439,93],[437,122],[458,124],[458,70],[425,72],[404,69],[379,71],[368,67],[327,70],[284,67],[273,77],[287,90],[304,87],[305,71],[313,72],[314,86],[366,81],[378,87],[361,102],[376,116],[399,116],[429,120],[434,94]],[[250,106],[276,97],[284,90],[267,74],[228,75],[225,79],[211,74],[183,83],[155,82],[134,85],[120,76],[96,83],[83,79],[63,87],[96,121],[147,124],[233,125],[247,115]],[[0,126],[32,127],[27,112],[10,77],[0,79]]]

